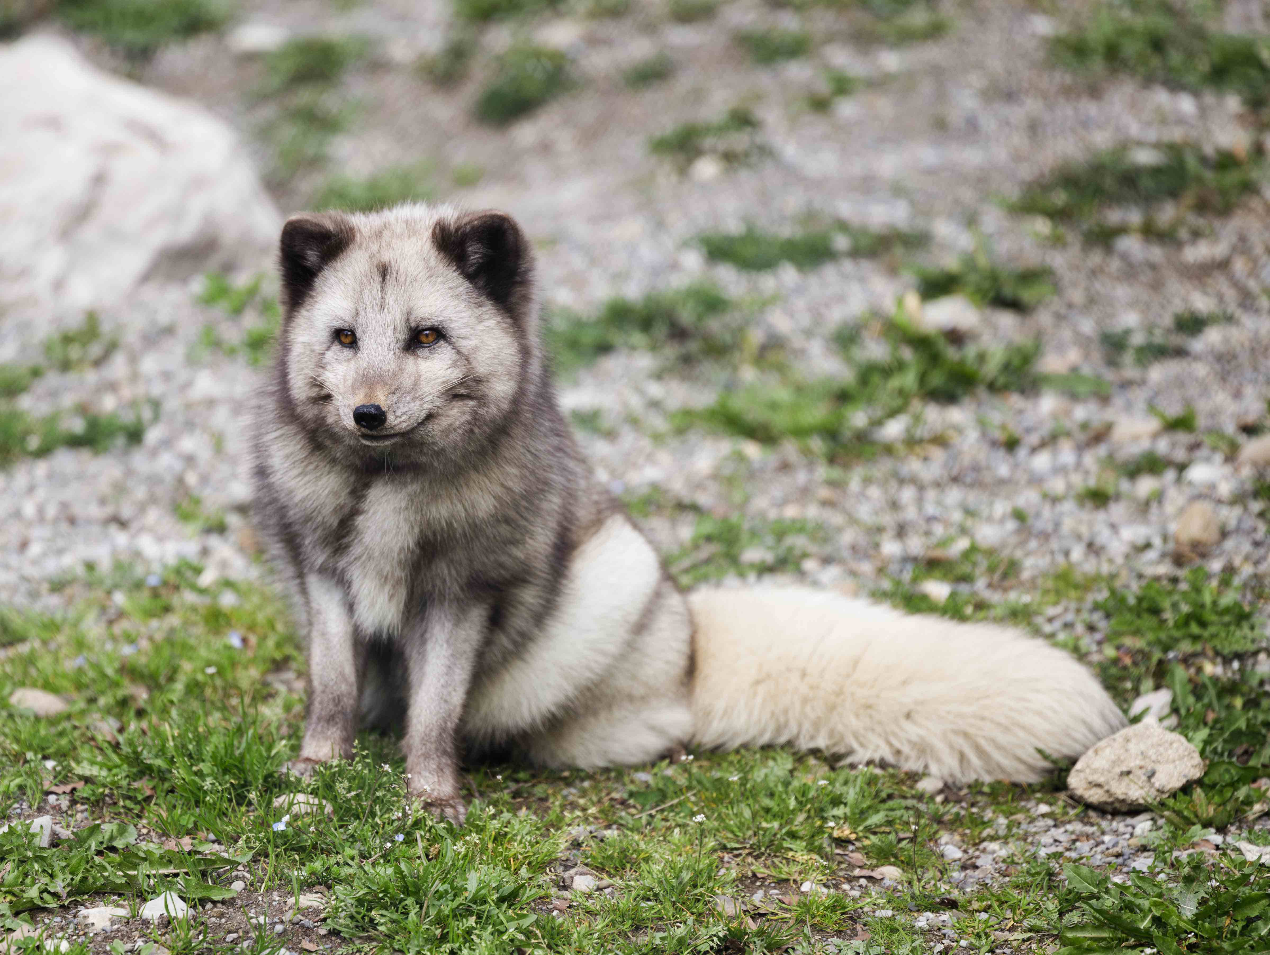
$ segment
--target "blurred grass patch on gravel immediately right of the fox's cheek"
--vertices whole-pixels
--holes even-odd
[[[555,367],[563,373],[616,349],[664,351],[677,361],[718,359],[740,345],[739,304],[710,283],[611,298],[594,318],[560,313],[547,327]]]

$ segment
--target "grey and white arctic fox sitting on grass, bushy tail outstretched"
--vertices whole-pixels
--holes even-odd
[[[1011,629],[803,587],[681,594],[564,421],[508,216],[300,214],[281,271],[253,448],[309,642],[295,772],[404,711],[409,793],[461,824],[464,752],[596,767],[771,743],[1030,781],[1125,724]]]

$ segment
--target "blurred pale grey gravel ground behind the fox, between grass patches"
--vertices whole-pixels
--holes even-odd
[[[1196,434],[1113,445],[1101,426],[1147,417],[1148,406],[1179,413],[1194,405],[1200,432],[1238,435],[1241,425],[1262,419],[1270,353],[1261,290],[1270,282],[1264,200],[1248,199],[1214,221],[1212,236],[1190,245],[1113,249],[1045,245],[1025,217],[998,203],[1055,162],[1123,140],[1246,142],[1248,120],[1237,101],[1129,82],[1077,84],[1046,67],[1044,41],[1055,22],[1003,4],[958,6],[956,28],[933,43],[893,49],[832,39],[810,61],[754,67],[730,34],[784,14],[735,3],[702,24],[652,14],[549,23],[540,36],[572,38],[568,48],[585,85],[508,132],[491,132],[469,118],[469,88],[438,94],[399,65],[437,43],[446,15],[436,4],[363,4],[347,13],[321,4],[262,4],[251,19],[297,33],[384,38],[371,65],[349,80],[364,114],[337,141],[335,165],[364,172],[419,156],[479,162],[481,183],[453,190],[453,198],[500,205],[521,218],[538,244],[547,303],[584,311],[613,294],[709,275],[729,293],[771,299],[754,318],[758,332],[780,341],[800,367],[832,372],[837,359],[827,332],[867,309],[889,311],[911,278],[893,264],[864,259],[812,271],[786,265],[740,273],[709,265],[693,236],[747,222],[780,230],[801,213],[829,211],[872,226],[930,230],[930,256],[937,261],[973,247],[978,230],[1003,261],[1052,265],[1059,288],[1025,317],[991,312],[982,337],[1040,336],[1043,367],[1076,368],[1114,384],[1105,400],[1043,392],[927,406],[907,430],[937,435],[939,443],[853,468],[831,484],[823,465],[792,448],[759,452],[700,432],[665,438],[665,411],[706,403],[718,378],[657,377],[648,355],[617,354],[561,388],[568,408],[599,410],[611,424],[603,435],[584,436],[602,477],[635,490],[657,483],[674,498],[718,509],[732,500],[720,472],[739,446],[748,462],[747,512],[804,516],[831,529],[808,567],[824,583],[867,587],[950,536],[1017,558],[1024,581],[1068,562],[1090,572],[1165,573],[1172,569],[1177,515],[1195,498],[1212,501],[1223,526],[1206,558],[1212,568],[1267,569],[1265,521],[1248,496],[1250,474],[1237,473]],[[493,30],[497,46],[507,28]],[[109,62],[107,52],[86,48]],[[615,71],[658,48],[697,68],[648,93],[622,89]],[[165,49],[140,79],[203,100],[250,138],[260,67],[240,57],[225,70],[227,57],[222,38],[201,38]],[[876,81],[838,99],[828,114],[810,113],[799,103],[815,60]],[[646,138],[672,122],[710,118],[745,99],[765,120],[767,161],[696,181],[646,153]],[[279,189],[283,208],[301,205],[301,184]],[[248,520],[241,413],[260,372],[241,358],[192,358],[204,323],[231,321],[197,304],[194,289],[197,279],[142,289],[126,308],[103,316],[119,341],[107,361],[46,375],[22,398],[41,411],[84,401],[100,410],[152,401],[157,419],[137,448],[104,455],[62,450],[0,473],[0,599],[56,604],[48,582],[85,561],[151,568],[184,557],[210,561],[226,576],[257,573],[250,538],[241,533]],[[1146,370],[1105,367],[1099,332],[1163,326],[1181,308],[1229,309],[1234,321],[1193,340],[1182,358]],[[29,351],[39,335],[19,330],[18,337]],[[892,422],[890,434],[903,435],[904,425]],[[1001,425],[1017,434],[1013,449],[1002,445]],[[1109,455],[1148,448],[1180,467],[1124,481],[1124,493],[1105,509],[1074,498]],[[224,511],[226,531],[192,535],[174,515],[189,496]],[[1026,524],[1011,516],[1019,509]],[[668,548],[691,530],[690,519],[655,524],[653,533]]]

